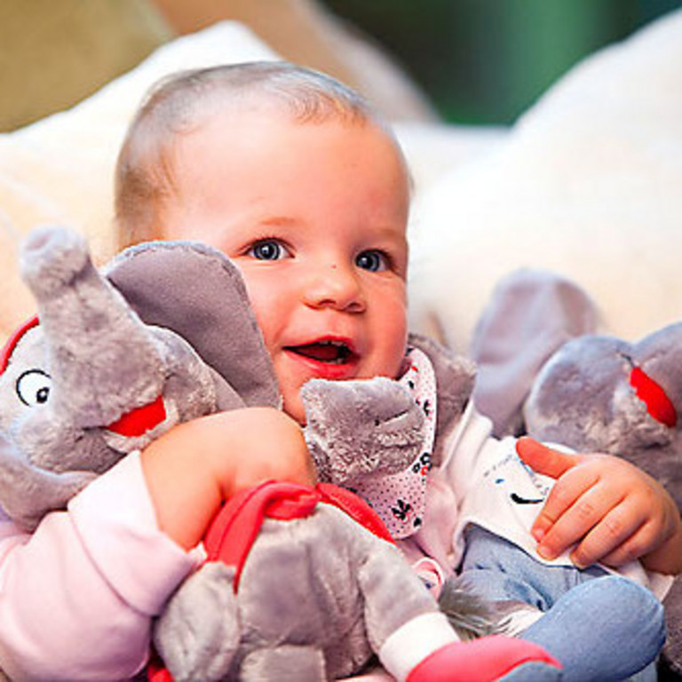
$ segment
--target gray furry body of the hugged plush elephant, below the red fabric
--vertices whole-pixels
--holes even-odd
[[[301,496],[313,504],[305,518],[264,519],[239,573],[209,561],[171,598],[155,643],[174,679],[345,678],[401,625],[437,612],[393,543],[330,504],[334,487],[287,488],[289,504]],[[207,535],[215,559],[234,553],[222,531]],[[183,646],[187,630],[202,633],[202,646]]]

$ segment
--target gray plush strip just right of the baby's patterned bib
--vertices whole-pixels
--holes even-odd
[[[438,393],[436,408],[436,450],[434,464],[440,464],[440,443],[443,433],[448,432],[464,413],[472,398],[476,379],[476,366],[464,356],[451,353],[432,338],[410,334],[408,345],[426,354],[433,366]]]

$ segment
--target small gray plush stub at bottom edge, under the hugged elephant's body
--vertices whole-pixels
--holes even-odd
[[[242,661],[243,682],[325,682],[324,656],[315,646],[277,646],[250,652]]]

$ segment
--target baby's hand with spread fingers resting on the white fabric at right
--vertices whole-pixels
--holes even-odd
[[[611,567],[641,559],[661,573],[682,571],[682,523],[662,485],[624,459],[567,454],[530,438],[519,439],[521,459],[557,479],[532,533],[537,551],[554,559],[576,544],[578,567]]]

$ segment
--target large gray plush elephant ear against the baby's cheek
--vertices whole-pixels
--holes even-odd
[[[242,275],[222,253],[198,242],[147,242],[114,258],[106,274],[143,321],[185,338],[246,405],[279,407]]]

